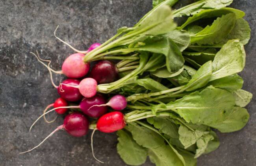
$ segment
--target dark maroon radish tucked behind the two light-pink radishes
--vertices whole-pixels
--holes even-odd
[[[109,60],[100,60],[91,69],[89,77],[94,78],[98,84],[107,84],[118,79],[118,69]]]

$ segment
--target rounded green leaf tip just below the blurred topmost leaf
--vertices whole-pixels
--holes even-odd
[[[170,38],[179,47],[180,51],[184,51],[189,46],[190,35],[187,31],[173,30],[163,35],[164,37]]]

